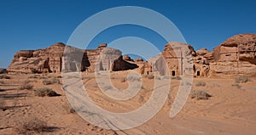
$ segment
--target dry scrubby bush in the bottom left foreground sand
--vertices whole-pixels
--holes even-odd
[[[31,117],[17,124],[15,130],[20,134],[34,134],[47,131],[47,123],[37,117]]]

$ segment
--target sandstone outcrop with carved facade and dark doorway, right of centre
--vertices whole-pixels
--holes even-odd
[[[158,71],[161,76],[169,73],[172,76],[183,76],[184,73],[192,72],[191,57],[195,55],[195,50],[191,45],[182,42],[169,42],[159,56],[148,59],[148,61],[153,70]],[[190,68],[189,65],[191,65]]]

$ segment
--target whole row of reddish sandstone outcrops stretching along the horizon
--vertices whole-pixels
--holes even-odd
[[[65,49],[66,48],[66,49]],[[65,49],[65,55],[63,54]],[[68,56],[68,57],[67,57]],[[15,54],[9,72],[60,72],[132,70],[141,66],[141,74],[158,71],[161,76],[256,75],[256,34],[240,34],[228,38],[213,51],[194,48],[181,42],[169,42],[158,56],[143,61],[132,60],[121,51],[107,48],[79,49],[57,42],[49,48],[22,50]],[[169,72],[168,72],[168,70]]]

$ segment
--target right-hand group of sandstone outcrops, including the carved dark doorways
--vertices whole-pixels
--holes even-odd
[[[191,54],[191,59],[186,58],[186,53]],[[212,52],[206,48],[195,52],[189,44],[169,42],[160,56],[165,58],[171,76],[182,76],[185,71],[193,71],[194,76],[256,75],[256,34],[240,34],[230,37]],[[153,66],[153,71],[162,73],[165,64],[160,56],[148,61]],[[188,60],[193,62],[193,69],[183,67]]]

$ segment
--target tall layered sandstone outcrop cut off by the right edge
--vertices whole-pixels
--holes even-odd
[[[256,34],[228,38],[213,49],[212,74],[256,74]]]

